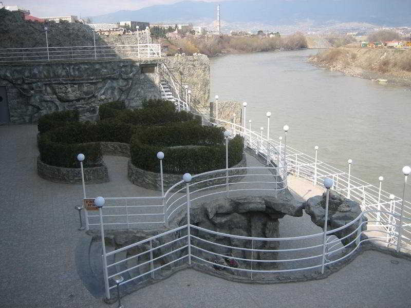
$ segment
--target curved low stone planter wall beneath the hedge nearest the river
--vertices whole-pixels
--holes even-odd
[[[240,168],[240,167],[246,167],[246,166],[247,166],[246,156],[243,155],[241,161],[237,165],[235,165],[233,168]],[[159,173],[137,168],[135,165],[133,165],[131,160],[128,160],[128,172],[127,173],[128,173],[128,179],[134,185],[147,188],[147,189],[161,191],[161,177]],[[246,169],[229,170],[230,176],[245,175],[246,173],[247,173]],[[200,182],[203,180],[210,179],[210,177],[217,178],[217,177],[225,177],[225,176],[226,176],[226,171],[215,172],[211,175],[204,175],[204,176],[195,178],[191,184],[195,182]],[[169,189],[171,186],[173,186],[174,184],[182,181],[182,177],[183,175],[163,174],[164,192],[167,189]],[[230,183],[240,182],[242,178],[244,177],[230,178]],[[193,189],[203,188],[203,187],[207,187],[210,185],[225,184],[225,183],[226,183],[225,178],[218,179],[218,180],[210,180],[210,181],[202,182],[198,185],[194,185]],[[183,186],[184,184],[181,184],[175,187],[173,191],[176,191],[182,188]]]

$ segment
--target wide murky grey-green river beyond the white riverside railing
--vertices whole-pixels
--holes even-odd
[[[231,54],[211,59],[211,97],[248,103],[252,129],[271,111],[270,137],[402,198],[401,169],[411,165],[411,89],[316,67],[316,50]],[[248,124],[247,124],[248,125]],[[406,200],[411,201],[411,179]]]

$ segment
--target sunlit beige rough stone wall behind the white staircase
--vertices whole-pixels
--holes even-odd
[[[207,55],[167,56],[163,59],[175,78],[188,85],[192,92],[194,108],[209,113],[210,108],[210,60]],[[180,93],[185,98],[184,93]]]

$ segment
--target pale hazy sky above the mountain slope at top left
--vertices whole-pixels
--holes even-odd
[[[36,17],[46,16],[92,16],[119,10],[138,10],[156,4],[171,4],[181,0],[0,0],[5,5],[19,5],[30,10]],[[199,0],[193,0],[199,1]],[[202,0],[222,2],[225,0]]]

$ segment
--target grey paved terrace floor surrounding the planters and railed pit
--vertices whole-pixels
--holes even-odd
[[[35,125],[0,126],[0,307],[116,307],[93,297],[79,277],[75,255],[84,232],[77,230],[74,205],[81,203],[82,188],[37,175],[36,132]],[[127,180],[126,158],[104,159],[111,181],[87,185],[89,196],[158,196]],[[302,179],[289,177],[289,185],[304,199],[321,193]],[[280,223],[281,236],[319,230],[307,215]],[[186,269],[123,302],[127,308],[405,308],[411,306],[410,284],[411,262],[368,251],[329,278],[302,283],[241,284]]]

